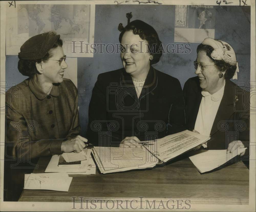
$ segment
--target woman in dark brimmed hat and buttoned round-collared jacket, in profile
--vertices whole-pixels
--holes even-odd
[[[68,67],[55,32],[28,39],[18,54],[19,72],[28,76],[6,92],[5,199],[15,201],[41,156],[80,152],[78,92],[63,78]]]

